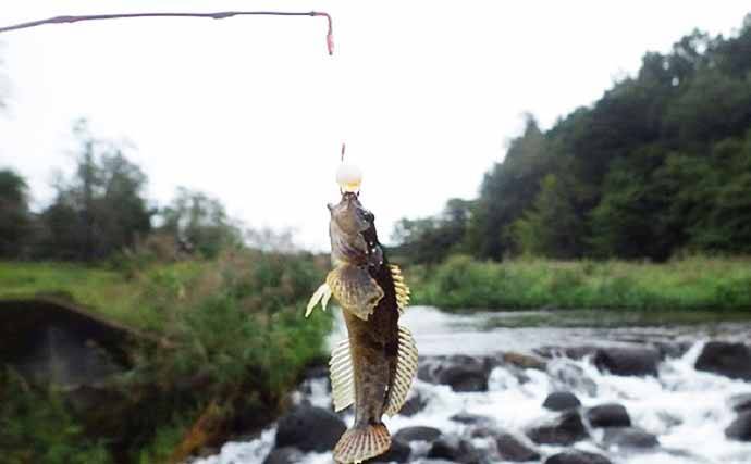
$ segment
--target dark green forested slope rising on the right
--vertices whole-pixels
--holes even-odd
[[[648,52],[547,130],[528,116],[478,198],[402,220],[394,239],[419,263],[751,253],[751,14],[731,37]]]

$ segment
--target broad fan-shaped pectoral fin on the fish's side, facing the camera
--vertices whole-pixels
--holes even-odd
[[[383,289],[364,267],[342,264],[325,278],[343,310],[368,321],[383,298]]]

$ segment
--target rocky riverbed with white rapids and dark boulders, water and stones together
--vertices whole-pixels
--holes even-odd
[[[507,329],[491,317],[410,309],[419,378],[373,462],[751,463],[751,325]],[[332,412],[325,374],[311,371],[259,436],[196,462],[331,463],[353,417]]]

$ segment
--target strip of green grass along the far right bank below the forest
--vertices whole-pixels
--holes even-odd
[[[751,311],[749,259],[483,263],[456,255],[409,274],[414,304],[453,310]]]

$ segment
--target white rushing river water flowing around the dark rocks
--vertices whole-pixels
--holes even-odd
[[[693,368],[706,340],[748,341],[751,327],[748,323],[630,328],[504,328],[498,324],[498,318],[520,316],[525,314],[456,315],[418,306],[409,309],[403,323],[413,330],[421,356],[531,352],[535,348],[551,346],[633,346],[635,341],[668,342],[690,348],[661,362],[657,377],[615,376],[600,372],[589,358],[579,361],[555,358],[547,363],[545,371],[495,367],[490,374],[487,392],[454,392],[448,386],[417,380],[415,389],[427,399],[427,405],[411,417],[384,418],[392,434],[408,426],[428,425],[444,434],[461,435],[468,426],[450,417],[464,412],[490,416],[503,429],[522,436],[531,424],[556,415],[543,409],[542,403],[551,391],[562,388],[562,378],[565,378],[566,389],[581,400],[584,409],[608,402],[620,403],[628,410],[632,425],[656,435],[660,446],[641,451],[608,448],[602,444],[602,429],[590,429],[590,439],[571,447],[535,447],[542,455],[538,462],[576,448],[604,454],[614,464],[751,464],[751,443],[728,440],[724,434],[736,417],[728,399],[751,393],[751,383]],[[332,334],[332,342],[343,336],[343,330],[340,324]],[[329,409],[331,400],[327,380],[319,378],[307,384],[307,393],[298,393],[296,400]],[[345,421],[350,424],[352,414],[346,415]],[[273,448],[274,431],[271,426],[255,439],[229,442],[219,454],[197,462],[260,464]],[[472,444],[478,449],[494,446],[482,438],[472,439]],[[424,455],[426,443],[413,442],[411,447],[413,456]],[[309,453],[301,463],[330,464],[332,459],[330,453]]]

